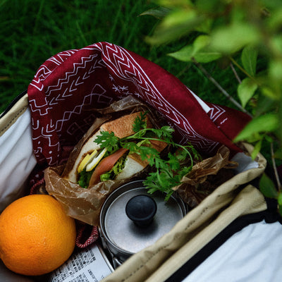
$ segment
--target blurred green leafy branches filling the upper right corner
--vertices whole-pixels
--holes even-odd
[[[265,148],[264,142],[269,143],[269,161],[276,183],[264,175],[259,188],[266,197],[277,200],[282,215],[281,180],[277,170],[277,164],[282,165],[281,1],[156,0],[154,3],[159,7],[142,13],[159,18],[147,42],[161,45],[180,38],[186,40],[183,48],[168,56],[194,63],[240,111],[252,116],[252,121],[234,142],[245,140],[254,144],[253,158]],[[240,103],[203,66],[222,58],[231,61]],[[242,72],[242,78],[235,68]],[[262,153],[269,155],[266,151]]]

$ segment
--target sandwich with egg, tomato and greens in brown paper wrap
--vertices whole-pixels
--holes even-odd
[[[123,180],[143,171],[149,159],[142,156],[136,147],[145,146],[157,154],[167,147],[167,143],[154,138],[140,141],[136,125],[141,125],[143,129],[153,126],[149,116],[142,111],[102,123],[87,134],[79,148],[75,147],[62,177],[82,188],[89,188],[101,181]]]

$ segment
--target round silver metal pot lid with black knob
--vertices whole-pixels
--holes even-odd
[[[165,202],[161,192],[149,195],[142,181],[125,184],[111,193],[100,216],[105,239],[130,254],[154,244],[186,214],[180,199],[171,196]],[[133,211],[128,206],[133,207]],[[140,216],[140,212],[143,215]]]

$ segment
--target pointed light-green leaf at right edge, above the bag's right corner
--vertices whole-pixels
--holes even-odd
[[[234,142],[240,140],[247,140],[248,137],[252,137],[255,133],[271,132],[278,128],[278,117],[276,114],[264,114],[252,119],[250,123],[247,123],[245,128],[235,137]]]

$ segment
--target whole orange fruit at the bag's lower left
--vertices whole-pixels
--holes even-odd
[[[18,274],[47,274],[75,247],[75,220],[50,195],[28,195],[0,215],[0,258]]]

